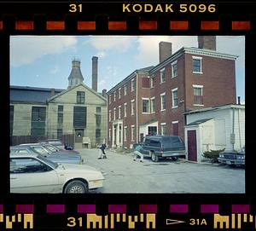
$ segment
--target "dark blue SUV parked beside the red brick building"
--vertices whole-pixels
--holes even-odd
[[[146,136],[143,138],[143,155],[154,162],[159,158],[185,158],[185,145],[179,136]]]

